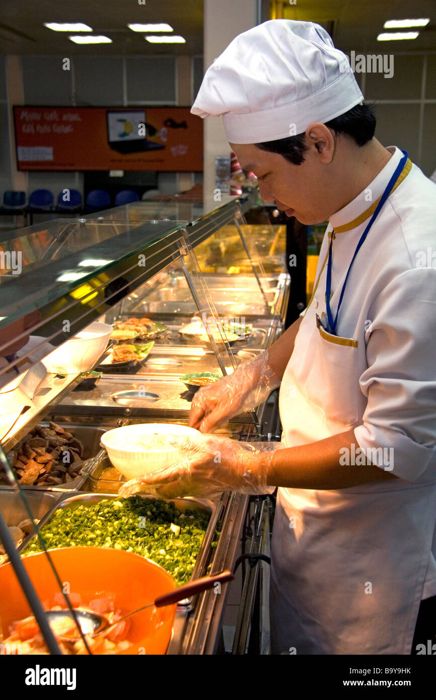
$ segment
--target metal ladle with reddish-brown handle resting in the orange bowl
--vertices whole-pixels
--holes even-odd
[[[76,617],[76,624],[80,626],[83,634],[89,634],[92,638],[99,636],[99,634],[106,632],[111,627],[115,627],[122,620],[127,619],[127,617],[132,617],[136,615],[136,612],[141,612],[141,610],[146,610],[146,608],[151,608],[153,605],[155,608],[164,608],[165,605],[172,605],[173,603],[178,603],[178,601],[183,601],[184,598],[193,596],[202,591],[206,591],[209,588],[213,588],[216,583],[226,583],[227,581],[232,581],[234,575],[230,570],[220,571],[215,575],[203,576],[202,578],[197,578],[195,581],[186,583],[183,586],[179,586],[169,593],[164,593],[162,596],[157,596],[153,603],[148,603],[148,605],[143,605],[142,608],[136,608],[132,612],[127,612],[127,615],[123,615],[116,622],[109,623],[105,615],[101,615],[99,612],[94,612],[94,610],[87,610],[87,608],[73,608],[75,615],[73,616],[71,610],[45,610],[45,615],[48,618],[48,622],[54,622],[57,619],[62,619],[64,617],[70,617],[74,619]],[[80,636],[64,636],[62,634],[56,634],[63,642],[75,642],[80,639]]]

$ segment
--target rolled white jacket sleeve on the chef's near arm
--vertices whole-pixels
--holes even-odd
[[[436,479],[435,297],[431,267],[402,272],[384,288],[370,309],[368,367],[359,379],[367,397],[354,430],[359,446],[366,454],[391,450],[384,468],[411,482]]]

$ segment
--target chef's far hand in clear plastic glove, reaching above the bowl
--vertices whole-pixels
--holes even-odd
[[[201,433],[213,433],[233,416],[253,410],[277,386],[280,379],[269,367],[268,351],[262,352],[232,374],[200,388],[192,399],[189,424]]]

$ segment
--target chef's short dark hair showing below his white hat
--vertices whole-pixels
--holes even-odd
[[[353,139],[358,146],[364,146],[368,141],[371,141],[375,125],[374,109],[370,104],[358,104],[330,122],[325,122],[326,127],[332,129],[336,134],[344,134]],[[297,134],[278,141],[263,141],[262,144],[255,144],[255,146],[258,146],[261,151],[279,153],[294,165],[302,164],[304,153],[308,150],[304,134]]]

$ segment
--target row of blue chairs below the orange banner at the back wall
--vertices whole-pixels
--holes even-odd
[[[134,190],[121,190],[115,195],[112,204],[111,195],[106,190],[91,190],[87,194],[85,207],[83,207],[82,195],[78,190],[65,188],[59,192],[57,203],[50,190],[34,190],[29,197],[25,192],[7,190],[3,194],[3,206],[1,214],[26,214],[37,211],[100,211],[108,207],[120,207],[122,204],[138,202],[139,195]]]

